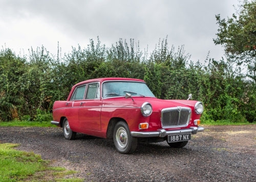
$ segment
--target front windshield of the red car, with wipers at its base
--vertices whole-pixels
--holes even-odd
[[[104,82],[102,86],[102,97],[118,97],[129,93],[132,96],[155,97],[151,90],[142,82]]]

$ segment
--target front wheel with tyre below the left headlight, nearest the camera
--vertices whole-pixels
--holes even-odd
[[[119,153],[133,153],[137,148],[138,139],[131,136],[130,129],[124,121],[116,123],[113,140]]]

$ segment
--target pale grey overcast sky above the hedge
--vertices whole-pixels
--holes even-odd
[[[0,0],[0,45],[20,49],[44,45],[53,55],[57,42],[63,53],[71,46],[87,47],[89,39],[110,47],[119,38],[135,42],[152,51],[168,35],[168,46],[184,45],[191,60],[203,62],[223,56],[215,45],[218,25],[215,15],[231,17],[236,0],[94,0],[29,1]]]

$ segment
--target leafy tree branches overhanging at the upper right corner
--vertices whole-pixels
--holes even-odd
[[[219,29],[214,43],[223,45],[226,54],[239,64],[245,62],[248,76],[256,82],[256,0],[240,3],[237,13],[227,20],[216,15]]]

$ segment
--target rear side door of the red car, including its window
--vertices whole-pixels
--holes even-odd
[[[66,116],[69,120],[70,127],[79,127],[79,108],[83,102],[84,94],[87,84],[77,86],[70,98],[66,103]]]

